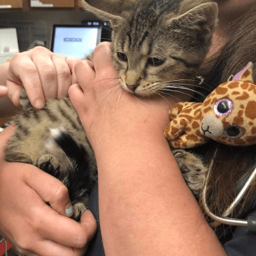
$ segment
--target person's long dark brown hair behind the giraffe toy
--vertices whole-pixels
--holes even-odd
[[[230,75],[241,71],[249,61],[254,63],[253,79],[256,82],[256,5],[230,24],[226,44],[208,61],[208,65],[214,63],[214,66],[205,83],[216,88]],[[207,201],[213,212],[222,215],[239,192],[245,177],[256,167],[256,144],[243,147],[210,141],[195,151],[204,156],[208,166],[215,156],[210,170]],[[255,191],[256,182],[241,205],[234,209],[233,216],[239,217],[244,213]]]

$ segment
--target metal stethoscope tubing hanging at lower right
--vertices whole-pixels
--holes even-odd
[[[213,164],[213,161],[211,163],[211,165]],[[247,227],[250,231],[252,232],[256,232],[256,215],[254,216],[249,216],[249,218],[247,220],[242,220],[242,219],[234,219],[234,218],[229,218],[228,216],[230,215],[231,211],[239,204],[239,202],[242,200],[242,198],[244,197],[246,191],[248,190],[248,188],[250,187],[250,185],[252,184],[253,180],[256,177],[256,168],[253,170],[253,172],[251,173],[251,175],[249,176],[249,178],[246,180],[246,182],[244,183],[242,189],[240,190],[239,194],[237,195],[237,197],[233,200],[233,202],[226,208],[226,210],[224,211],[224,213],[222,214],[222,216],[217,216],[215,214],[213,214],[206,203],[206,188],[207,188],[207,184],[208,184],[208,179],[209,179],[209,174],[210,174],[210,169],[211,169],[211,165],[209,166],[209,172],[207,174],[206,177],[206,181],[205,181],[205,185],[202,191],[202,205],[204,207],[204,210],[206,212],[206,214],[214,221],[218,223],[222,223],[222,224],[227,224],[227,225],[233,225],[233,226],[245,226]],[[216,225],[212,225],[212,226],[216,226]]]

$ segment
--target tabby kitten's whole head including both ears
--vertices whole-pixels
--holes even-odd
[[[169,84],[196,78],[218,14],[209,0],[139,0],[118,15],[88,3],[84,7],[111,21],[121,86],[142,96],[170,93]]]

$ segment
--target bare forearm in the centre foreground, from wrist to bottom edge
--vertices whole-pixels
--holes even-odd
[[[147,135],[96,152],[106,255],[226,255],[165,138]]]

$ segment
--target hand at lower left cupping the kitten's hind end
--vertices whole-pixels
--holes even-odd
[[[91,211],[80,223],[68,218],[71,203],[62,182],[33,165],[4,160],[13,131],[10,125],[0,133],[0,233],[26,255],[83,255],[97,226]]]

